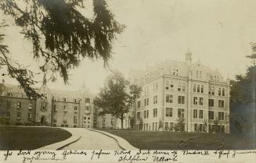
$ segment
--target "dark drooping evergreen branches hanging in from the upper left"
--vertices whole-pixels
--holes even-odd
[[[94,17],[85,17],[79,8],[84,0],[3,0],[0,9],[14,22],[7,25],[20,27],[20,34],[31,42],[33,57],[46,81],[55,81],[57,73],[68,82],[68,71],[79,65],[82,58],[102,58],[105,66],[111,57],[116,34],[124,26],[114,19],[105,0],[93,0]],[[16,79],[26,94],[35,94],[31,85],[35,73],[26,66],[13,62],[8,46],[0,34],[0,69]],[[18,55],[18,54],[13,54]]]

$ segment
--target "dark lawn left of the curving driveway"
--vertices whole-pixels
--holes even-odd
[[[70,136],[59,128],[0,126],[0,150],[34,150]]]

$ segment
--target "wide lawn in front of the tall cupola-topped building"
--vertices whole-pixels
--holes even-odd
[[[175,133],[163,131],[104,130],[128,140],[142,150],[255,149],[254,136],[220,133]]]

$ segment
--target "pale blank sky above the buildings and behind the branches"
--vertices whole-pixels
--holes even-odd
[[[183,61],[188,48],[193,61],[219,69],[233,78],[250,63],[250,42],[256,42],[256,1],[254,0],[109,0],[116,19],[126,25],[114,42],[111,69],[127,74],[145,69],[146,64],[171,58]],[[89,5],[88,5],[89,6]],[[19,30],[6,30],[6,42],[13,58],[31,62],[31,48]],[[87,59],[70,71],[70,84],[59,79],[49,87],[78,90],[86,85],[93,92],[103,86],[109,69],[103,62]],[[10,83],[14,81],[5,79]]]

